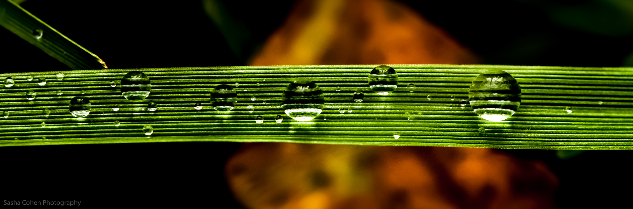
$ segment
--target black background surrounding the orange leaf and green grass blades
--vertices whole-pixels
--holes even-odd
[[[127,69],[246,64],[293,1],[236,2],[220,1],[242,29],[241,36],[228,39],[223,33],[230,28],[218,29],[201,1],[28,0],[21,6],[97,54],[109,68]],[[624,9],[627,3],[618,4],[624,1],[403,2],[472,49],[483,64],[633,66],[633,11]],[[2,73],[70,70],[6,29],[0,28],[0,40]],[[3,147],[1,199],[241,208],[223,178],[225,160],[239,146]],[[630,198],[631,150],[587,151],[567,160],[556,157],[555,150],[499,151],[544,160],[560,179],[560,208],[612,208]]]

